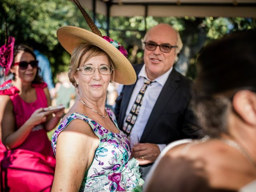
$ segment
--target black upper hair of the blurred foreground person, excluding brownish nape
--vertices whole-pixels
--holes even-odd
[[[256,88],[256,31],[236,32],[206,46],[198,58],[197,87],[205,95]]]

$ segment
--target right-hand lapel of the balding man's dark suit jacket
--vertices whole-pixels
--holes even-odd
[[[174,94],[175,90],[177,89],[179,85],[179,80],[180,77],[178,75],[178,72],[173,68],[168,79],[166,80],[166,83],[164,84],[164,87],[162,88],[162,91],[160,92],[160,95],[156,100],[156,103],[149,116],[144,132],[141,136],[140,142],[143,142],[145,140],[145,138],[148,136],[148,134],[154,127],[154,124],[156,123],[160,114],[164,110],[164,106],[166,106],[166,104],[172,98],[172,95]]]

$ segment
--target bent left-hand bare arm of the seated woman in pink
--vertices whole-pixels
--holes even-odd
[[[15,116],[13,113],[13,104],[7,95],[0,96],[0,122],[2,129],[2,143],[7,149],[14,149],[20,146],[27,138],[34,126],[45,122],[49,112],[43,112],[39,108],[30,116],[30,118],[15,131]]]

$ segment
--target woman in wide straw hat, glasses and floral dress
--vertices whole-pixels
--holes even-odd
[[[102,37],[79,2],[75,3],[96,34],[75,26],[57,31],[58,40],[71,54],[68,76],[78,94],[52,136],[56,154],[52,191],[142,191],[129,141],[114,113],[105,107],[110,80],[133,84],[136,74],[124,48]]]

